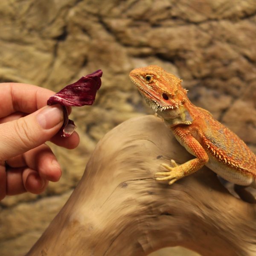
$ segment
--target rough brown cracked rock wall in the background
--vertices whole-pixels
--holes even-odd
[[[256,152],[254,0],[11,0],[0,1],[0,20],[0,82],[58,91],[103,70],[93,107],[73,109],[79,148],[52,146],[63,168],[61,180],[43,195],[0,203],[0,255],[22,254],[34,244],[107,131],[152,113],[129,80],[135,67],[158,64],[175,73],[195,105],[211,111]]]

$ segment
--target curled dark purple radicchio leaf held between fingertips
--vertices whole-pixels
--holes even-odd
[[[101,86],[101,77],[102,70],[82,76],[78,81],[67,85],[48,99],[47,105],[60,104],[63,107],[64,123],[60,130],[62,137],[69,137],[76,129],[75,123],[68,119],[67,106],[92,105],[96,92]]]

